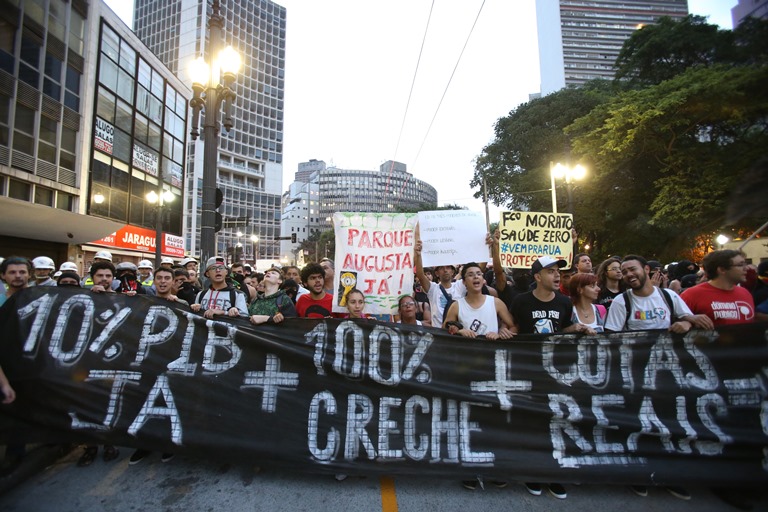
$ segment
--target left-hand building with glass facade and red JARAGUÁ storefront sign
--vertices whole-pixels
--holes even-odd
[[[184,189],[192,95],[103,2],[3,0],[0,9],[0,247],[87,271],[152,259],[150,191]],[[181,201],[163,253],[182,257]]]

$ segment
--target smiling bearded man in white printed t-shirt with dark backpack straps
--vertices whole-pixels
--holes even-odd
[[[653,285],[650,272],[648,262],[642,256],[631,254],[621,260],[622,279],[629,290],[613,299],[605,321],[606,331],[669,329],[684,334],[693,325],[698,325],[699,319],[678,294]],[[630,300],[629,314],[625,297]]]

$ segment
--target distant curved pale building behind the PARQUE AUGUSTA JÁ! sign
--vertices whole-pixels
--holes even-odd
[[[315,199],[317,198],[317,199]],[[388,160],[378,171],[326,167],[322,160],[299,164],[296,181],[283,196],[282,260],[301,262],[301,242],[316,231],[332,229],[336,212],[434,210],[437,191],[408,172],[404,163]]]

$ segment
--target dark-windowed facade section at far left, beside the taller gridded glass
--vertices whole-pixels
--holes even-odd
[[[0,16],[3,195],[75,211],[87,4],[4,1]],[[15,95],[14,95],[15,92]]]

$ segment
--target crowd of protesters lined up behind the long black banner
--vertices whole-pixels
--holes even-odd
[[[768,320],[768,261],[750,265],[738,251],[711,252],[701,265],[684,260],[664,266],[640,255],[611,256],[596,269],[586,253],[577,254],[572,262],[543,256],[530,269],[508,271],[501,265],[498,239],[498,231],[487,237],[491,265],[466,263],[434,268],[422,265],[422,244],[417,240],[413,293],[399,298],[397,312],[392,316],[375,318],[445,329],[467,338],[500,340],[528,333],[595,334],[645,329],[685,333],[692,328],[714,329]],[[0,305],[28,286],[67,286],[93,293],[152,295],[186,305],[206,318],[241,317],[254,325],[280,324],[292,317],[371,317],[365,311],[364,293],[356,288],[345,289],[346,293],[338,298],[348,312],[333,312],[335,265],[327,258],[301,269],[272,267],[263,273],[242,263],[227,265],[220,257],[210,258],[199,269],[193,258],[178,264],[164,258],[159,268],[152,267],[147,260],[139,265],[114,265],[112,255],[100,251],[88,274],[80,276],[71,262],[56,269],[53,260],[45,256],[31,261],[9,257],[0,264],[5,291],[0,294]],[[15,399],[1,368],[0,392],[5,404]],[[149,453],[137,450],[130,463],[138,463]],[[13,462],[13,457],[23,455],[23,446],[9,446],[7,454]],[[104,460],[115,459],[118,454],[115,447],[104,447]],[[79,465],[91,464],[96,455],[97,447],[87,446]],[[172,457],[163,454],[162,460]],[[464,485],[474,489],[477,483],[465,481]],[[534,495],[541,494],[544,488],[541,483],[525,485]],[[567,496],[560,484],[549,483],[546,487],[557,498]],[[632,490],[643,496],[648,493],[640,486]],[[679,498],[690,498],[685,489],[667,490]],[[729,502],[738,506],[735,501]]]

